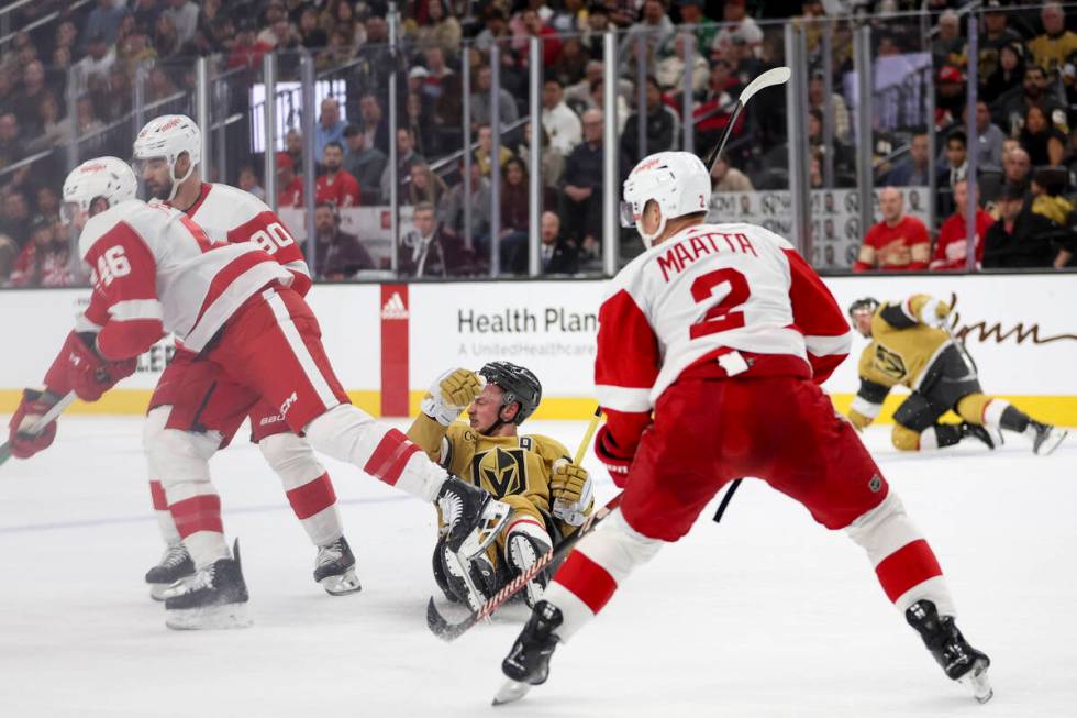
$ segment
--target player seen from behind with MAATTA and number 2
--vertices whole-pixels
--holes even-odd
[[[819,388],[850,350],[842,310],[777,234],[707,223],[710,194],[703,163],[682,152],[645,158],[624,183],[622,207],[647,251],[606,294],[595,362],[607,415],[595,451],[624,494],[535,605],[495,703],[543,683],[556,644],[746,476],[845,530],[946,675],[987,700],[989,660],[957,630],[931,548]]]

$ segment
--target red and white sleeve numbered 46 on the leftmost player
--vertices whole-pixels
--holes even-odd
[[[137,356],[165,334],[157,298],[157,265],[145,240],[118,222],[86,251],[93,291],[76,331],[97,331],[97,350],[109,361]]]

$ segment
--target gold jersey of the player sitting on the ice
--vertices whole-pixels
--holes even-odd
[[[549,528],[555,541],[557,533],[564,537],[575,531],[549,513],[553,464],[571,461],[560,442],[541,434],[487,437],[462,421],[446,429],[425,415],[419,415],[408,438],[448,472],[511,506],[517,516],[530,516]]]

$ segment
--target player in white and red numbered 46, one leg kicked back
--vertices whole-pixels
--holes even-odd
[[[317,450],[436,501],[449,518],[452,550],[469,557],[485,549],[509,507],[449,477],[402,432],[379,427],[348,404],[318,321],[290,287],[295,275],[256,243],[214,241],[184,212],[134,199],[135,187],[131,167],[115,157],[91,159],[68,175],[64,208],[80,230],[79,254],[93,270],[93,290],[45,376],[46,390],[24,394],[10,438],[20,457],[46,448],[55,423],[36,437],[29,432],[49,407],[45,397],[74,390],[85,400],[100,398],[166,332],[197,354],[168,420],[187,429],[168,426],[149,446],[196,567],[165,600],[166,625],[249,623],[246,585],[238,554],[224,539],[209,459],[259,401],[277,407]],[[199,430],[211,398],[221,401],[221,434]]]

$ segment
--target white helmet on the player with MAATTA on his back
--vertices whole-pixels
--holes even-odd
[[[654,200],[662,220],[658,229],[643,231],[643,208]],[[621,225],[635,225],[643,243],[651,246],[666,229],[666,221],[706,212],[711,201],[711,176],[703,161],[690,152],[659,152],[640,162],[624,180]]]

